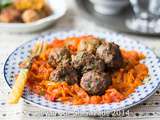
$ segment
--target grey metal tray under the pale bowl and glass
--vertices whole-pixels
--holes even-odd
[[[160,36],[160,33],[138,32],[138,31],[133,31],[129,29],[126,26],[125,22],[127,19],[133,17],[133,11],[131,7],[124,9],[118,15],[103,15],[103,14],[97,13],[93,8],[93,4],[90,3],[88,0],[76,0],[76,3],[82,15],[84,15],[87,19],[96,22],[96,24],[102,27],[109,28],[119,32],[131,33],[131,34]]]

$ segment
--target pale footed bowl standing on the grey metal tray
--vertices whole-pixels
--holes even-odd
[[[95,11],[104,15],[118,14],[123,8],[129,5],[128,0],[90,0]]]

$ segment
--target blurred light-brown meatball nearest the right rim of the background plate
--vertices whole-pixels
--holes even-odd
[[[28,9],[25,10],[22,14],[22,20],[25,23],[30,23],[39,20],[41,17],[37,11]]]

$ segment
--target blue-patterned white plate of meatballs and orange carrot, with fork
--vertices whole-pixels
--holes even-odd
[[[148,47],[106,32],[49,33],[18,47],[4,65],[10,104],[22,97],[81,115],[141,103],[159,87],[159,72],[159,60]]]

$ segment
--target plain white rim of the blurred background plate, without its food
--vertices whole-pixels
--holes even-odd
[[[67,11],[64,0],[47,0],[52,14],[32,23],[0,23],[0,31],[5,32],[35,32],[52,25],[56,20],[61,18]]]

